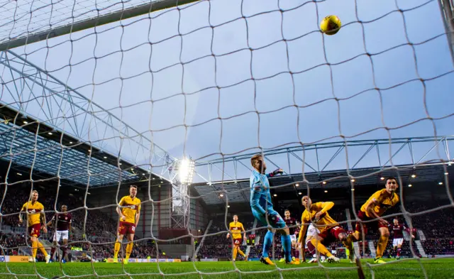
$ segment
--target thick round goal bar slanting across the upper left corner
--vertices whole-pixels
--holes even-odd
[[[11,48],[18,48],[23,45],[40,42],[41,40],[48,40],[50,38],[86,30],[95,26],[102,26],[107,23],[113,23],[127,18],[133,18],[135,16],[142,16],[146,13],[153,13],[155,11],[190,4],[195,1],[200,0],[150,0],[150,2],[147,4],[138,5],[131,9],[119,10],[114,13],[108,13],[103,16],[96,16],[88,19],[84,18],[81,21],[68,23],[57,28],[50,28],[46,31],[22,35],[18,38],[11,38],[11,40],[0,43],[0,51],[9,50]]]

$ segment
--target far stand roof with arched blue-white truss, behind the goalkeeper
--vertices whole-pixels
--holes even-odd
[[[444,182],[448,178],[445,173],[452,162],[449,145],[453,140],[454,137],[421,137],[341,141],[278,148],[263,151],[263,153],[267,162],[267,172],[278,166],[284,171],[287,170],[284,175],[270,179],[272,193],[279,197],[295,199],[301,197],[308,185],[311,189],[339,187],[358,189],[365,185],[384,184],[382,177],[387,176],[399,177],[404,185],[413,182]],[[354,162],[350,163],[352,167],[349,170],[337,168],[338,165],[345,165],[345,157],[342,154],[346,147],[351,159],[354,159]],[[392,153],[389,153],[390,147]],[[321,156],[323,149],[330,155]],[[311,158],[312,151],[316,160]],[[199,175],[204,181],[192,185],[194,194],[201,196],[208,206],[216,204],[223,207],[227,200],[228,203],[249,202],[248,176],[252,171],[249,165],[253,154],[255,153],[198,163],[196,171],[200,174],[207,169],[209,175],[206,177],[209,178]],[[292,160],[291,157],[298,160]],[[321,160],[321,157],[325,157],[326,160]],[[295,171],[303,170],[302,158],[306,159],[304,170],[309,170],[304,172],[304,175],[301,171]],[[392,158],[393,164],[389,158]],[[336,164],[338,159],[341,160]],[[331,164],[333,166],[330,168]],[[217,175],[214,170],[218,170]],[[412,175],[415,177],[411,177]],[[226,178],[216,180],[219,177]],[[353,179],[355,181],[351,181]]]

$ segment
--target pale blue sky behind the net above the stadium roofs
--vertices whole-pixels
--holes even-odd
[[[3,6],[0,14],[12,12]],[[322,35],[319,22],[331,14],[343,27]],[[213,0],[150,16],[13,51],[175,158],[210,160],[341,135],[454,134],[452,117],[418,121],[454,112],[453,60],[437,1]],[[43,17],[32,21],[45,27]],[[28,109],[43,118],[39,106]],[[87,138],[118,153],[118,140],[107,139],[118,132],[100,136],[95,126]],[[121,157],[149,160],[137,151],[123,149]],[[345,168],[345,159],[333,168]]]

